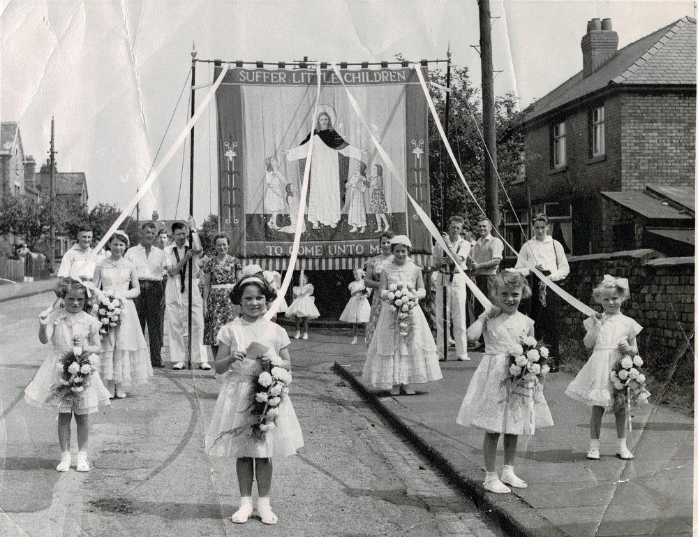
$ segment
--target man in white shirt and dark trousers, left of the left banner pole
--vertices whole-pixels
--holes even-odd
[[[140,329],[145,334],[148,325],[150,340],[150,362],[153,367],[163,367],[161,349],[163,346],[163,325],[161,322],[161,302],[163,300],[163,275],[165,274],[165,252],[153,246],[156,227],[152,222],[140,226],[140,244],[129,248],[124,256],[133,261],[138,273],[140,295],[136,297]]]

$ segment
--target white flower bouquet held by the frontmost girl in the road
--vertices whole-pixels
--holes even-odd
[[[248,348],[248,357],[251,353],[254,353],[253,349]],[[288,385],[291,383],[291,372],[283,367],[279,355],[273,355],[263,367],[264,370],[253,383],[254,395],[249,421],[251,436],[260,440],[276,427],[274,422],[279,415],[279,406],[288,395]]]

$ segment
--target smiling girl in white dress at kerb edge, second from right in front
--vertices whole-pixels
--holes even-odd
[[[514,473],[519,434],[533,434],[534,427],[550,427],[553,418],[540,387],[530,394],[531,405],[524,402],[522,396],[510,394],[503,384],[508,376],[507,353],[521,343],[521,337],[533,337],[533,320],[518,311],[521,299],[530,297],[528,282],[517,271],[500,272],[494,279],[492,293],[492,307],[466,332],[468,341],[478,341],[482,334],[485,350],[470,379],[456,423],[484,429],[482,451],[486,473],[483,485],[489,492],[505,494],[512,492],[507,485],[528,487],[526,481]],[[501,480],[496,469],[500,434],[504,434]]]

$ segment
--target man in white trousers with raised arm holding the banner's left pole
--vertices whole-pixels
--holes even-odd
[[[165,308],[170,339],[170,361],[172,369],[183,369],[186,364],[186,345],[182,334],[191,338],[191,362],[200,364],[201,369],[211,369],[208,352],[204,346],[204,310],[199,291],[200,256],[203,253],[194,219],[189,216],[192,247],[186,242],[187,230],[183,222],[172,224],[173,241],[165,247],[165,270],[168,283],[165,286]],[[186,330],[189,306],[188,261],[192,260],[191,280],[191,330]]]

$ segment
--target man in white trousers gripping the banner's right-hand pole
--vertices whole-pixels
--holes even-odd
[[[464,220],[461,216],[451,216],[448,220],[448,233],[443,233],[443,240],[459,266],[466,270],[466,260],[470,255],[470,242],[461,237]],[[468,358],[468,340],[466,339],[466,280],[453,264],[450,256],[437,244],[434,248],[434,264],[439,268],[436,280],[436,351],[439,360],[446,360],[444,337],[448,339],[450,326],[456,340],[456,355],[459,360]],[[446,313],[444,319],[444,294],[446,295]],[[445,322],[444,322],[445,321]],[[444,334],[444,325],[446,330]]]

